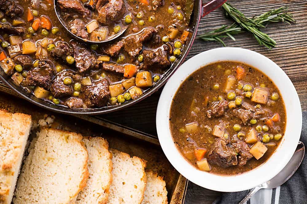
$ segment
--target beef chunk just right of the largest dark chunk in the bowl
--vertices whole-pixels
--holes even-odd
[[[251,149],[247,143],[240,140],[237,135],[232,135],[230,138],[231,145],[235,149],[235,152],[239,154],[238,156],[238,166],[243,166],[248,160],[253,158],[253,155],[249,152]]]

